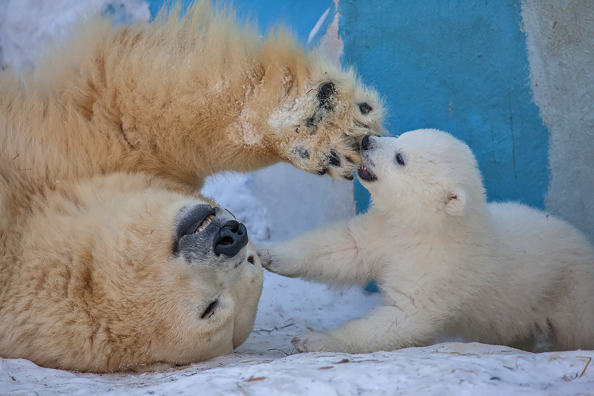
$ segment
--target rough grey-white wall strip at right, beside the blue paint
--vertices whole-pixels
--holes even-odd
[[[551,131],[545,207],[594,241],[594,7],[526,0],[522,18],[534,100]]]

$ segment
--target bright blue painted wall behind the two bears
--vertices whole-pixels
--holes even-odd
[[[163,1],[149,2],[155,15]],[[333,7],[331,0],[233,3],[262,32],[287,22],[304,45]],[[385,97],[391,135],[451,132],[475,152],[490,200],[544,208],[549,136],[529,90],[520,0],[340,0],[339,12],[343,61]],[[355,183],[357,211],[365,211],[368,193]]]

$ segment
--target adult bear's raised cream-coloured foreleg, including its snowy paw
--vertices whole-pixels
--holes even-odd
[[[143,170],[192,187],[277,161],[352,178],[359,141],[381,132],[375,93],[282,30],[261,43],[213,12],[200,1],[151,24],[85,21],[36,72],[4,72],[4,160],[50,179]],[[328,82],[331,109],[320,110]]]

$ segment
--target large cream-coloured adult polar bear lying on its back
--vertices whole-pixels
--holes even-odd
[[[1,357],[105,372],[228,353],[262,269],[204,178],[284,160],[352,179],[375,93],[213,12],[86,21],[0,76]]]

